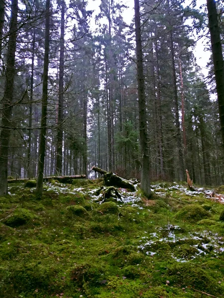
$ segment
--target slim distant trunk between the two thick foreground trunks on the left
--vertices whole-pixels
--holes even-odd
[[[32,146],[32,101],[33,101],[33,74],[34,74],[34,50],[35,50],[35,29],[33,32],[33,42],[32,42],[32,61],[31,61],[31,78],[30,78],[30,104],[29,104],[29,132],[28,132],[28,152],[27,152],[27,175],[28,178],[32,177],[32,167],[31,163],[31,146]]]

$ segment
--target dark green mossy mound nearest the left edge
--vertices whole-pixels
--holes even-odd
[[[35,219],[36,216],[27,209],[17,208],[2,223],[11,227],[16,227],[22,224],[27,224],[31,220]]]

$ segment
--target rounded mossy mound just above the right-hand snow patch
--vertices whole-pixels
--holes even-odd
[[[176,219],[188,221],[188,222],[198,222],[200,220],[209,218],[210,214],[204,208],[199,205],[188,205],[183,207],[175,215]]]

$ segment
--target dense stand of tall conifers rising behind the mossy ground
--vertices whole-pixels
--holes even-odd
[[[186,169],[224,184],[222,1],[91,3],[1,1],[0,194],[38,177],[41,196],[44,176],[97,178],[94,165],[142,185]]]

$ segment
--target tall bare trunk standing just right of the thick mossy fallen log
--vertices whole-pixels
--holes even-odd
[[[139,136],[141,151],[141,189],[146,196],[151,195],[150,188],[150,164],[149,150],[147,143],[147,121],[146,121],[146,103],[144,90],[144,74],[143,74],[143,55],[141,44],[141,23],[139,0],[134,0],[134,22],[136,37],[136,66],[137,66],[137,82],[138,82],[138,109],[139,109]]]

